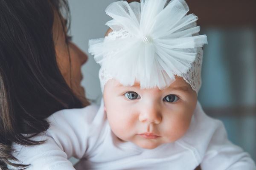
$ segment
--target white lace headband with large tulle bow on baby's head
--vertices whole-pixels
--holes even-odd
[[[106,8],[113,18],[113,32],[89,41],[89,52],[102,67],[99,79],[102,91],[109,79],[122,85],[140,82],[141,88],[169,87],[175,75],[201,87],[202,48],[206,35],[199,35],[198,17],[188,14],[184,0],[118,1]]]

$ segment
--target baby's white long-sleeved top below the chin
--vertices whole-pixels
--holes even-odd
[[[75,170],[71,156],[83,159],[84,170],[256,170],[255,163],[227,139],[221,121],[207,116],[198,103],[187,133],[174,143],[147,150],[120,142],[104,112],[95,105],[62,110],[47,121],[50,127],[33,140],[34,147],[14,144],[13,153],[28,170]]]

